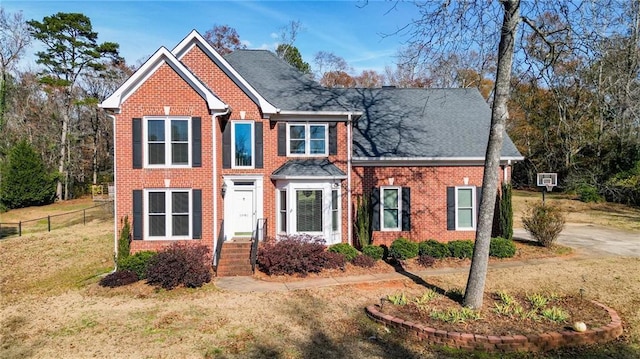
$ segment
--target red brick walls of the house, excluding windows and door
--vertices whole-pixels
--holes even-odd
[[[146,77],[135,92],[128,96],[120,107],[115,121],[115,166],[116,166],[116,218],[133,218],[133,191],[143,189],[184,188],[202,190],[202,238],[190,243],[202,243],[213,248],[218,236],[215,226],[221,226],[225,218],[222,185],[225,176],[250,176],[262,178],[262,217],[267,220],[267,236],[277,233],[276,181],[272,173],[287,161],[287,156],[279,156],[278,123],[281,117],[263,114],[259,104],[250,94],[230,78],[215,61],[198,46],[191,47],[179,59],[199,81],[230,108],[230,115],[212,118],[205,98],[172,66],[166,62]],[[201,118],[202,165],[193,168],[143,168],[134,169],[132,119],[145,116],[187,116]],[[241,118],[244,117],[244,119]],[[270,117],[270,118],[269,118]],[[291,118],[288,118],[291,119]],[[348,172],[348,131],[347,115],[327,117],[327,122],[338,122],[337,155],[328,160],[343,172]],[[304,120],[295,118],[294,120]],[[223,168],[223,131],[230,121],[254,121],[263,129],[263,166],[252,169]],[[215,146],[215,149],[214,149]],[[146,150],[143,148],[143,151]],[[214,158],[215,156],[215,158]],[[214,168],[215,166],[215,168]],[[474,231],[447,230],[447,187],[470,185],[481,186],[482,166],[353,166],[351,172],[352,208],[348,206],[348,180],[340,180],[341,190],[341,237],[349,242],[349,210],[354,213],[355,198],[369,196],[373,188],[392,184],[411,188],[411,230],[375,231],[374,244],[390,244],[402,236],[415,241],[434,238],[442,241],[472,239]],[[217,178],[214,183],[214,173]],[[393,178],[393,180],[391,180]],[[500,174],[502,178],[502,173]],[[214,210],[214,202],[217,208]],[[217,218],[214,218],[217,213]],[[352,220],[355,220],[352,218]],[[135,225],[135,224],[134,224]],[[355,235],[352,241],[357,241]],[[175,241],[135,240],[132,251],[157,250]]]

